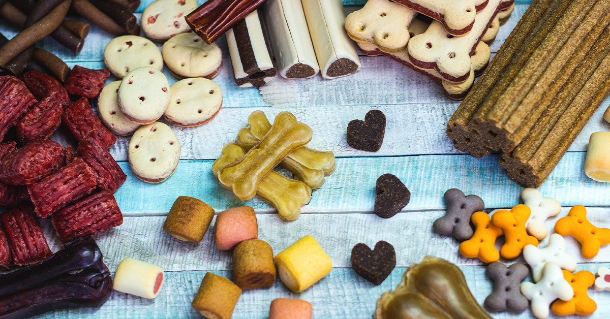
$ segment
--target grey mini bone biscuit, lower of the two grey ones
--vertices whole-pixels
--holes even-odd
[[[521,294],[520,284],[528,276],[529,270],[523,263],[492,262],[485,273],[493,280],[492,293],[485,298],[485,307],[494,312],[510,311],[520,314],[529,306],[528,299]]]

